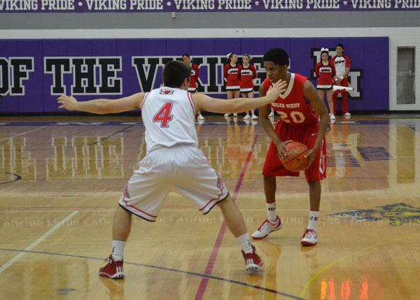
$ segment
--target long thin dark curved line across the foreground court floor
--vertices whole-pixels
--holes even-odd
[[[53,253],[53,252],[5,249],[5,248],[0,248],[0,251],[25,252],[25,253],[31,253],[31,254],[55,255],[55,256],[62,256],[62,257],[74,257],[74,258],[94,259],[94,260],[104,261],[103,258],[99,258],[99,257],[88,257],[88,256],[83,256],[83,255],[70,255],[70,254]],[[276,290],[268,289],[266,287],[260,287],[259,285],[250,285],[248,283],[242,283],[241,281],[237,281],[237,280],[231,280],[231,279],[226,279],[226,278],[221,278],[221,277],[216,277],[216,276],[211,276],[211,275],[206,275],[206,274],[200,274],[200,273],[195,273],[195,272],[190,272],[190,271],[169,269],[169,268],[165,268],[165,266],[152,266],[150,264],[139,264],[139,263],[136,263],[136,262],[124,262],[124,264],[130,264],[132,266],[144,266],[146,268],[158,269],[158,270],[163,270],[163,271],[172,271],[172,272],[182,273],[182,274],[186,274],[186,275],[200,276],[200,277],[205,277],[205,278],[209,278],[209,279],[224,281],[224,282],[227,282],[227,283],[234,283],[236,285],[244,285],[246,287],[252,287],[252,288],[255,288],[255,289],[258,289],[258,290],[263,290],[265,292],[270,292],[270,293],[273,293],[273,294],[279,294],[279,295],[288,297],[290,299],[304,300],[304,298],[300,298],[300,297],[293,296],[293,295],[290,295],[290,294],[286,294],[286,293],[283,293],[283,292],[279,292],[279,291],[276,291]]]

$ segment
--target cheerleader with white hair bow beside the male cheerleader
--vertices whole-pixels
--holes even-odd
[[[315,67],[315,75],[318,78],[316,89],[321,99],[327,94],[328,108],[330,108],[330,119],[335,120],[334,106],[332,104],[332,85],[335,83],[335,66],[330,64],[328,48],[321,48],[321,62]]]

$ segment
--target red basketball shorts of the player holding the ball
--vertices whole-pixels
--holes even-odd
[[[297,141],[304,143],[307,145],[307,148],[311,149],[314,147],[316,135],[318,134],[318,123],[315,122],[304,127],[292,127],[279,120],[274,131],[276,131],[276,134],[279,136],[281,141]],[[311,181],[323,180],[323,178],[327,177],[326,154],[327,145],[325,143],[325,138],[323,138],[321,146],[316,153],[314,162],[311,164],[309,169],[304,171],[304,176],[306,177],[308,183]],[[288,169],[283,167],[277,152],[277,147],[272,141],[269,144],[264,166],[262,167],[262,175],[267,177],[299,176],[299,172],[288,171]]]

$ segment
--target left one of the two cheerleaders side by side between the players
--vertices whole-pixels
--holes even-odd
[[[239,71],[241,69],[241,64],[238,64],[238,56],[235,53],[228,54],[228,64],[225,65],[223,71],[223,78],[226,82],[226,92],[228,94],[228,99],[239,98]],[[230,113],[225,113],[225,117],[228,117]],[[234,117],[237,117],[238,114],[234,113]]]

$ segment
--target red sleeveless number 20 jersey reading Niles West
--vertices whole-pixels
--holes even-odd
[[[270,104],[274,110],[279,112],[281,122],[288,126],[303,127],[319,120],[318,114],[303,96],[303,85],[307,79],[300,74],[290,73],[290,82],[286,92]],[[267,78],[262,86],[264,92],[267,93],[272,83]]]

